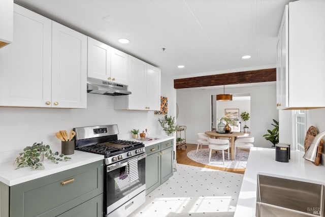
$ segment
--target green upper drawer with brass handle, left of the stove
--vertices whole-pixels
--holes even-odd
[[[10,217],[57,216],[103,193],[103,161],[10,187]]]

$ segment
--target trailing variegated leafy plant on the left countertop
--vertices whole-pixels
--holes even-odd
[[[16,158],[15,162],[17,168],[30,167],[34,170],[44,170],[45,167],[42,163],[42,154],[52,161],[55,164],[58,164],[59,161],[69,161],[71,158],[64,156],[64,154],[59,154],[58,151],[53,152],[49,145],[41,143],[34,143],[32,146],[27,146],[24,148],[24,152],[19,153],[19,156]]]

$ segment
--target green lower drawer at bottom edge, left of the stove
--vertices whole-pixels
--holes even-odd
[[[66,211],[58,217],[103,217],[103,194],[94,197],[72,209]]]

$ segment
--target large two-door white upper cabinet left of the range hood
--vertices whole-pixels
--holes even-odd
[[[0,106],[85,108],[86,61],[84,35],[15,4],[14,42],[0,49]]]

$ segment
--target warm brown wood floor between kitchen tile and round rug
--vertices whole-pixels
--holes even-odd
[[[215,170],[222,170],[222,171],[227,171],[227,172],[234,172],[234,173],[240,173],[244,174],[245,169],[232,169],[232,168],[222,168],[222,167],[214,167],[214,166],[209,166],[205,164],[200,164],[195,161],[192,161],[187,157],[187,152],[191,150],[197,149],[197,144],[186,144],[182,146],[178,146],[176,148],[176,161],[178,164],[186,164],[186,165],[191,165],[191,166],[196,166],[196,167],[204,167],[204,168],[209,168],[209,169],[215,169]],[[180,147],[182,147],[180,149]]]

